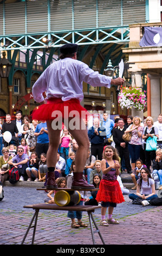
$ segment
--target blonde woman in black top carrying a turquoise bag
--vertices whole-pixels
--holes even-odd
[[[145,151],[145,159],[146,159],[146,166],[147,169],[150,170],[151,161],[153,161],[156,157],[156,150],[147,151],[146,150],[146,143],[148,138],[153,138],[156,136],[159,138],[158,128],[153,126],[153,119],[152,117],[146,118],[146,127],[143,131],[142,139],[144,139],[144,151]],[[151,172],[151,170],[150,170]]]

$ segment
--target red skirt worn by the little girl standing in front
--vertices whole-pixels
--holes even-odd
[[[124,202],[124,196],[122,195],[118,180],[102,179],[96,196],[96,201],[116,204]]]

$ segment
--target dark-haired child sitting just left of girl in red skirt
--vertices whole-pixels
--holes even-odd
[[[99,188],[100,181],[101,181],[100,174],[95,174],[93,176],[93,185],[95,186],[95,188]],[[85,205],[98,205],[98,202],[96,201],[97,193],[98,193],[98,191],[92,191],[91,192],[92,196],[87,198]]]

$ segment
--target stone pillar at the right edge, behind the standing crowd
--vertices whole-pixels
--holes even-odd
[[[148,75],[151,83],[151,117],[153,121],[157,121],[161,112],[160,103],[160,76]]]

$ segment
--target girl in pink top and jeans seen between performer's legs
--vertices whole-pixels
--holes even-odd
[[[67,129],[63,129],[63,135],[60,138],[60,155],[67,162],[69,155],[69,143],[72,141],[72,137],[69,135]]]

